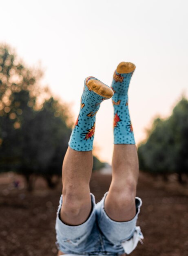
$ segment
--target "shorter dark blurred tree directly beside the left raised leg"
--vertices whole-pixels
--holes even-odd
[[[61,175],[62,161],[66,153],[71,129],[67,127],[63,116],[64,109],[52,97],[44,102],[42,110],[28,123],[25,152],[35,150],[35,173],[42,175],[49,187],[55,187],[54,175]],[[31,135],[30,135],[31,134]],[[28,145],[27,145],[28,144]],[[27,150],[30,146],[33,150]],[[28,157],[31,159],[31,157]],[[28,166],[28,163],[26,163]]]

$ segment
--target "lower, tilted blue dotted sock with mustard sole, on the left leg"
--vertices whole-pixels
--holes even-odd
[[[84,90],[80,102],[80,112],[73,127],[69,146],[77,151],[93,149],[95,134],[95,116],[100,103],[113,96],[113,90],[93,76],[84,81]]]

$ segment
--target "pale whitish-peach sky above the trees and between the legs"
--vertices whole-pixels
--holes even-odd
[[[111,85],[121,61],[136,70],[128,91],[136,144],[157,115],[167,117],[188,97],[187,0],[0,1],[0,42],[29,66],[44,70],[42,85],[70,105],[75,120],[84,79]],[[113,154],[113,105],[102,102],[94,146],[102,161]]]

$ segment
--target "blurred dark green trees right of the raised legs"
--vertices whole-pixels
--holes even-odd
[[[172,115],[153,121],[147,141],[138,146],[139,168],[153,174],[188,174],[188,101],[185,97],[177,103]]]

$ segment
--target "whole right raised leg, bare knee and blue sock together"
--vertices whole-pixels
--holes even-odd
[[[114,151],[112,182],[105,211],[115,221],[131,220],[136,213],[138,157],[128,110],[128,88],[135,70],[133,63],[120,63],[113,76]]]

